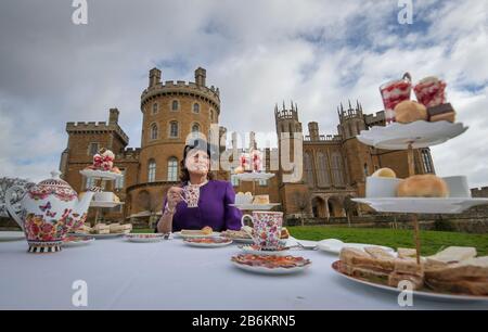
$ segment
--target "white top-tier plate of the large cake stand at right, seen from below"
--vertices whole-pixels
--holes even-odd
[[[413,149],[421,149],[444,143],[466,130],[467,127],[461,123],[419,120],[411,124],[375,126],[370,130],[362,130],[357,139],[377,149],[406,150],[409,143],[412,143]]]

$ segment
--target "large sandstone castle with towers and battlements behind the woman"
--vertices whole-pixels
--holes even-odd
[[[218,128],[220,139],[227,138],[227,129],[219,127],[220,92],[206,85],[206,71],[197,68],[195,81],[162,82],[162,72],[153,68],[149,73],[147,88],[141,94],[142,132],[141,148],[127,148],[129,138],[118,125],[119,111],[111,108],[108,123],[67,123],[67,148],[61,155],[61,171],[77,192],[93,186],[79,171],[92,163],[92,156],[101,148],[116,154],[115,165],[124,177],[107,183],[125,202],[108,210],[103,218],[108,221],[137,221],[155,219],[169,187],[178,182],[179,162],[188,135],[205,133]],[[298,118],[298,107],[283,104],[274,106],[275,130],[279,149],[264,149],[266,167],[277,176],[268,181],[239,182],[230,171],[218,171],[217,178],[232,181],[235,192],[254,191],[269,194],[271,202],[281,203],[286,216],[329,218],[369,213],[365,207],[354,204],[350,199],[364,195],[365,177],[381,167],[393,168],[398,177],[408,176],[404,151],[382,151],[360,143],[356,136],[373,126],[384,126],[384,112],[363,114],[362,105],[349,102],[337,107],[336,135],[321,135],[317,123],[308,124],[308,136],[304,136]],[[270,168],[278,162],[286,135],[298,139],[292,141],[290,158],[296,149],[303,151],[303,177],[296,181],[284,180],[294,170]],[[230,153],[240,152],[236,136],[232,135]],[[251,135],[251,145],[256,144]],[[222,148],[221,148],[222,149]],[[224,148],[223,148],[224,149]],[[229,150],[229,149],[228,149]],[[239,151],[236,151],[239,150]],[[284,152],[284,153],[286,153]],[[416,174],[434,174],[429,149],[415,150]]]

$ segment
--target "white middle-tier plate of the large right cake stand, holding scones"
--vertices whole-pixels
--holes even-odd
[[[352,199],[352,201],[370,205],[377,212],[412,214],[460,214],[473,206],[488,204],[488,199],[471,197],[389,197]]]

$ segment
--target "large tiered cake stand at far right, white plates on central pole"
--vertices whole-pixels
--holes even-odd
[[[463,124],[451,124],[448,122],[415,122],[411,124],[391,124],[386,127],[373,127],[371,130],[362,130],[357,137],[358,140],[367,145],[383,150],[407,150],[409,176],[415,174],[413,149],[422,149],[441,144],[449,139],[460,136],[467,130]],[[446,178],[448,179],[448,178]],[[396,197],[372,195],[368,190],[368,182],[374,179],[367,179],[367,197],[354,199],[352,201],[367,204],[376,212],[383,213],[408,213],[412,216],[414,240],[416,246],[416,260],[420,264],[421,243],[418,214],[460,214],[463,210],[476,205],[488,204],[488,199],[473,199],[468,188],[460,190],[459,182],[448,182],[450,187],[450,196],[446,199],[428,197]],[[398,179],[386,179],[386,187],[398,184]],[[467,187],[467,183],[466,183]],[[395,192],[395,190],[389,192]],[[370,193],[368,193],[370,192]],[[385,192],[388,192],[386,190]],[[370,195],[370,196],[369,196]]]

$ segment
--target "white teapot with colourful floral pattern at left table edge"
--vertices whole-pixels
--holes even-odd
[[[21,212],[12,206],[16,186],[5,192],[5,206],[22,227],[29,244],[29,253],[61,251],[66,233],[76,231],[87,219],[87,210],[93,192],[87,192],[80,201],[76,191],[52,171],[52,178],[31,187],[20,201]]]

